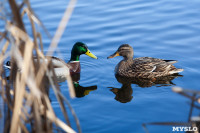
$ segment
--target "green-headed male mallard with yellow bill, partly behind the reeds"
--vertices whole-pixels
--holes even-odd
[[[66,67],[69,68],[70,74],[80,73],[81,66],[80,66],[79,58],[80,58],[80,55],[82,54],[86,54],[94,59],[97,59],[97,57],[90,52],[87,45],[82,42],[77,42],[74,44],[71,50],[71,58],[68,63],[65,63],[64,60],[59,59],[57,57],[47,56],[46,59],[48,58],[52,59],[55,74],[58,78],[62,79],[62,78],[65,78],[66,74],[68,73],[68,69],[66,69]],[[9,61],[6,63],[5,67],[10,69]]]

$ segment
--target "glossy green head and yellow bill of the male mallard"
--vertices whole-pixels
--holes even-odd
[[[93,55],[90,50],[88,49],[87,45],[82,42],[77,42],[74,44],[71,50],[71,59],[70,61],[79,61],[79,57],[82,54],[86,54],[94,59],[97,59],[95,55]]]

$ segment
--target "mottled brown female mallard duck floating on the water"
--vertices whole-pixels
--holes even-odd
[[[118,50],[108,58],[123,56],[123,60],[115,67],[115,73],[132,78],[157,78],[182,72],[172,64],[175,60],[162,60],[152,57],[140,57],[133,59],[133,48],[128,44],[121,45]]]

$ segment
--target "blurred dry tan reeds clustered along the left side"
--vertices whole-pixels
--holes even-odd
[[[43,27],[51,38],[50,34],[34,14],[28,0],[24,0],[20,5],[17,5],[14,0],[8,1],[10,5],[9,10],[12,14],[11,20],[8,20],[5,15],[5,3],[0,3],[0,12],[3,14],[1,14],[1,20],[6,24],[5,31],[0,33],[0,43],[4,43],[0,53],[1,98],[7,107],[6,112],[0,112],[1,115],[3,113],[1,119],[5,120],[3,131],[6,133],[54,132],[56,126],[58,127],[57,132],[73,133],[75,130],[70,126],[67,113],[67,110],[69,110],[75,118],[77,131],[81,132],[74,110],[60,92],[51,60],[49,59],[47,63],[34,60],[34,58],[45,59],[42,37],[36,30],[36,25]],[[69,2],[56,34],[52,38],[51,45],[49,46],[51,52],[48,52],[48,55],[52,55],[57,47],[75,3],[76,0]],[[24,15],[28,16],[32,27],[32,36],[26,32],[22,19]],[[9,80],[6,78],[5,68],[3,67],[4,61],[7,58],[11,59],[12,68]],[[70,75],[66,75],[66,78],[70,96],[74,97],[75,92]],[[66,122],[61,121],[52,108],[48,95],[50,86],[53,88]],[[27,128],[28,125],[30,125],[30,128]]]

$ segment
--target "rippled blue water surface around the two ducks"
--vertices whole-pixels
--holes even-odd
[[[69,1],[32,0],[32,8],[54,35]],[[200,79],[200,1],[199,0],[84,0],[78,1],[55,56],[65,61],[77,41],[86,43],[98,60],[81,56],[81,86],[97,85],[82,98],[70,99],[80,120],[83,133],[142,133],[142,124],[149,122],[186,122],[189,100],[175,94],[171,86],[140,87],[131,84],[132,100],[115,100],[111,88],[121,88],[114,76],[114,67],[122,59],[107,60],[117,48],[128,43],[134,57],[156,57],[178,60],[183,77],[172,80],[176,86],[199,90]],[[27,21],[28,22],[28,21]],[[49,38],[44,34],[44,50]],[[67,84],[60,83],[69,98]],[[131,93],[131,92],[130,92]],[[50,92],[54,109],[59,108]],[[57,110],[57,115],[62,119]],[[198,111],[195,112],[196,114]],[[195,114],[194,114],[195,115]],[[75,124],[72,124],[75,128]],[[152,133],[172,132],[171,126],[147,126]]]

